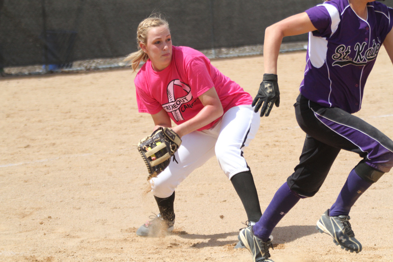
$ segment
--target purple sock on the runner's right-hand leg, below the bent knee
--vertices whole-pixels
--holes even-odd
[[[351,207],[371,185],[372,183],[363,180],[358,174],[356,174],[355,169],[353,169],[351,173],[349,173],[347,181],[337,197],[336,203],[330,208],[329,215],[347,216]]]

